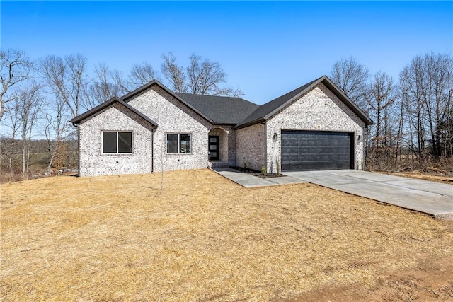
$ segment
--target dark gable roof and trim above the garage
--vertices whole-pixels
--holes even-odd
[[[365,124],[373,124],[372,120],[369,119],[365,112],[360,110],[360,108],[358,108],[357,105],[355,105],[355,103],[352,102],[352,100],[348,98],[348,96],[345,95],[345,93],[343,93],[343,91],[341,91],[340,88],[338,88],[338,86],[336,86],[335,83],[331,81],[331,79],[328,79],[327,76],[321,76],[314,81],[306,83],[304,86],[300,86],[299,88],[296,88],[293,91],[286,93],[285,95],[282,95],[278,98],[275,98],[274,100],[271,100],[268,103],[261,105],[258,109],[252,112],[251,115],[246,117],[246,119],[244,119],[241,123],[237,124],[235,128],[240,129],[243,127],[248,127],[252,124],[257,124],[258,122],[269,120],[278,112],[280,112],[284,108],[287,108],[296,100],[299,100],[302,95],[305,95],[306,93],[311,91],[311,89],[319,83],[323,83],[330,91],[332,91],[333,94],[335,94],[337,98],[339,98],[343,103],[345,103],[345,105],[350,110],[352,110],[355,115],[360,117],[360,119],[365,122]]]

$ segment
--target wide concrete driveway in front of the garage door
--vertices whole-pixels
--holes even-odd
[[[453,185],[361,170],[304,171],[283,174],[434,216],[453,213]]]

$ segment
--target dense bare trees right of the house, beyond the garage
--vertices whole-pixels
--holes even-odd
[[[414,57],[397,79],[353,58],[333,65],[331,79],[367,112],[367,168],[373,170],[453,167],[453,57]]]

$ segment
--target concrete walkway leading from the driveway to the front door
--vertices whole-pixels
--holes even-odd
[[[220,175],[236,182],[243,187],[266,187],[269,185],[289,185],[293,183],[304,183],[305,180],[292,178],[291,176],[284,176],[281,178],[258,178],[247,173],[242,173],[232,168],[212,168]]]

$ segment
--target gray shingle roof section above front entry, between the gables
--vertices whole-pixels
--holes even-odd
[[[175,93],[214,124],[238,124],[260,107],[243,98]]]

